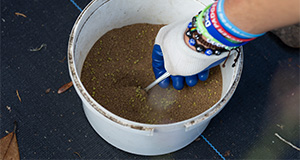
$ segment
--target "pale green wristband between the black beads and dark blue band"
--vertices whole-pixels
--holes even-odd
[[[197,17],[196,20],[196,26],[197,26],[197,31],[199,34],[202,34],[206,39],[208,43],[211,43],[212,45],[216,45],[218,47],[222,47],[225,48],[227,50],[232,49],[232,47],[226,46],[224,44],[222,44],[221,42],[219,42],[218,40],[216,40],[214,37],[212,37],[208,31],[206,30],[206,28],[204,27],[203,24],[203,14],[207,12],[207,10],[211,7],[211,5],[207,6]]]

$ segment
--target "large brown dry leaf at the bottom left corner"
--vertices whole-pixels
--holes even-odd
[[[19,147],[16,136],[17,123],[14,123],[14,130],[0,139],[0,160],[20,159]]]

